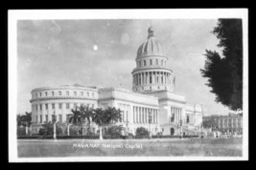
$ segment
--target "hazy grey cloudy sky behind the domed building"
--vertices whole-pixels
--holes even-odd
[[[221,53],[216,19],[19,20],[17,23],[17,114],[31,112],[31,91],[79,83],[131,91],[139,46],[152,26],[175,74],[175,91],[204,116],[227,115],[200,74],[205,50]]]

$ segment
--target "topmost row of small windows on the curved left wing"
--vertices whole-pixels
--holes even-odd
[[[44,96],[50,96],[50,95],[51,96],[56,96],[56,92],[51,92],[51,93],[50,92],[44,92],[44,93],[40,92],[40,93],[35,93],[35,97],[43,96],[43,94],[44,94]],[[58,96],[63,96],[63,95],[70,96],[70,92],[66,91],[65,93],[63,93],[62,91],[58,91]],[[73,91],[73,96],[79,96],[78,92]],[[86,95],[85,95],[84,92],[80,92],[80,96],[90,96],[90,93],[87,92]],[[91,93],[91,96],[94,96],[94,93]]]

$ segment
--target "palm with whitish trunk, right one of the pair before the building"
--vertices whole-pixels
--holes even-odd
[[[94,110],[92,120],[100,127],[100,139],[103,139],[103,126],[120,120],[122,117],[121,112],[120,109],[114,107],[107,107],[105,110],[101,108]]]

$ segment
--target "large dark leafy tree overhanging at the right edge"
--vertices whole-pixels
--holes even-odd
[[[223,57],[206,50],[204,69],[200,72],[208,78],[207,86],[221,102],[231,110],[243,109],[243,33],[241,19],[219,19],[213,33],[220,40]]]

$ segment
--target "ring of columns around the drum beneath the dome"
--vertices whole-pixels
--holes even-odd
[[[133,86],[144,84],[171,84],[172,76],[167,72],[142,72],[132,75]]]

